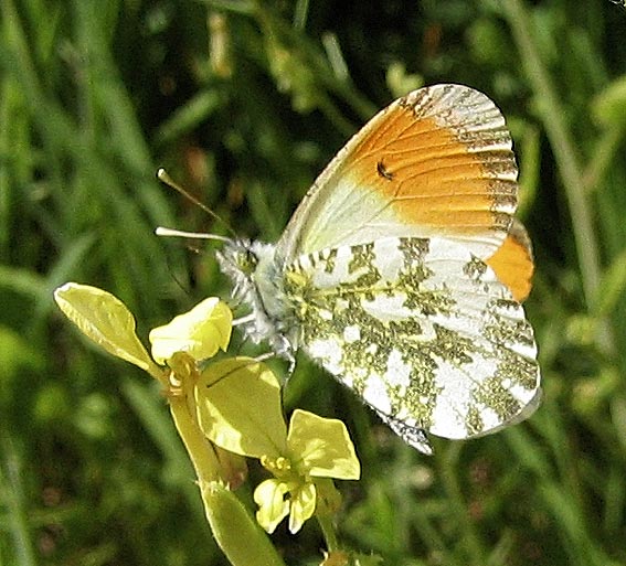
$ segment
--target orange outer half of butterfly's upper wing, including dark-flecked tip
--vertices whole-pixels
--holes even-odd
[[[465,238],[501,231],[503,239],[517,206],[509,132],[487,97],[450,92],[456,105],[422,90],[391,105],[367,126],[340,174],[384,194],[403,224]]]

